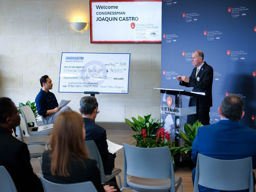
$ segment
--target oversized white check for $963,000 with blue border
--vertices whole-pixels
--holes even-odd
[[[128,93],[130,53],[62,53],[59,92]]]

